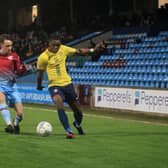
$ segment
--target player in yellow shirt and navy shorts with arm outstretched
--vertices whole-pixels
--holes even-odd
[[[56,105],[59,119],[67,133],[67,138],[74,138],[74,134],[68,122],[68,117],[64,110],[64,101],[69,104],[74,112],[73,125],[78,130],[80,135],[84,134],[81,127],[83,114],[80,109],[79,101],[72,84],[71,77],[66,70],[66,59],[74,54],[89,54],[93,53],[104,45],[99,43],[95,48],[80,48],[75,49],[72,47],[61,44],[61,41],[56,38],[49,39],[48,48],[41,53],[37,61],[37,89],[42,90],[42,80],[44,71],[48,76],[48,88],[53,102]]]

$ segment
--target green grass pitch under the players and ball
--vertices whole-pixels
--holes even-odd
[[[30,107],[30,106],[29,106]],[[74,129],[75,139],[65,139],[57,114],[25,108],[20,135],[3,132],[0,118],[0,167],[2,168],[167,168],[168,126],[85,115],[86,135]],[[97,114],[91,111],[90,114]],[[70,123],[72,113],[68,114]],[[124,117],[123,117],[124,118]],[[53,125],[49,137],[36,134],[38,122]],[[71,124],[72,125],[72,124]]]

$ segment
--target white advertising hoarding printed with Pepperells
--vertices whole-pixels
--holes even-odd
[[[168,90],[96,87],[95,107],[168,113]]]

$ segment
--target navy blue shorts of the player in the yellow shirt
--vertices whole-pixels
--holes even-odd
[[[51,86],[49,88],[49,92],[52,98],[59,94],[65,102],[73,102],[78,100],[73,84],[66,86]]]

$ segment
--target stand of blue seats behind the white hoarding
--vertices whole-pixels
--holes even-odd
[[[97,62],[86,61],[80,68],[71,66],[69,73],[75,84],[168,88],[167,37],[167,31],[155,37],[146,33],[113,35],[107,55]]]

